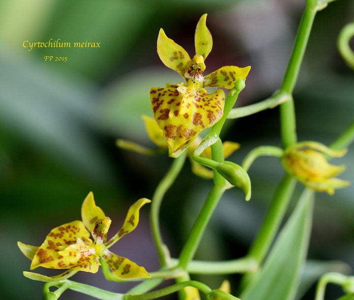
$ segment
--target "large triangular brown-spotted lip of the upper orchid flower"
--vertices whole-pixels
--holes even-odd
[[[151,88],[154,118],[163,130],[170,156],[177,157],[198,133],[215,124],[223,115],[225,93],[217,90],[207,94],[182,84],[166,88]]]

